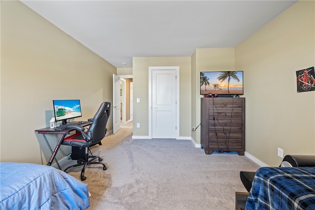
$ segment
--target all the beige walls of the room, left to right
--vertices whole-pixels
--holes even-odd
[[[284,155],[315,154],[315,91],[297,93],[295,78],[295,71],[315,65],[314,4],[298,1],[235,49],[133,58],[132,69],[117,70],[133,74],[133,99],[141,98],[133,109],[134,125],[141,128],[134,127],[133,135],[149,132],[149,66],[180,66],[180,136],[197,144],[200,126],[194,133],[191,128],[200,123],[200,71],[243,70],[247,154],[270,166],[282,160],[278,147]],[[0,5],[0,161],[46,164],[50,151],[34,130],[48,126],[52,100],[81,99],[82,120],[91,118],[102,101],[112,102],[116,68],[20,1]]]

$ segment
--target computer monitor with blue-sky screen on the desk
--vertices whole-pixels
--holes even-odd
[[[53,100],[55,120],[67,120],[82,117],[80,100]]]

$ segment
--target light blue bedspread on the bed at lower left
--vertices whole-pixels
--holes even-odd
[[[52,166],[0,163],[1,210],[85,210],[87,184]]]

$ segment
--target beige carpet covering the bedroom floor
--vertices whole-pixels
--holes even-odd
[[[240,171],[259,168],[238,154],[206,155],[190,140],[131,135],[132,129],[121,128],[92,148],[107,170],[86,170],[88,210],[233,210],[235,192],[246,192]],[[79,179],[80,169],[68,173]]]

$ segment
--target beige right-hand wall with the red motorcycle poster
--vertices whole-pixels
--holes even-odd
[[[315,91],[297,93],[296,71],[315,64],[315,1],[298,1],[235,49],[244,71],[246,152],[279,166],[315,154]]]

